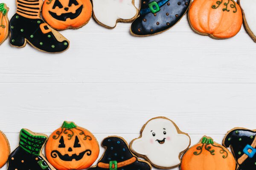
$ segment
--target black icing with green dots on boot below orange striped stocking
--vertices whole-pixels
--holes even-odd
[[[22,47],[27,40],[41,51],[50,53],[65,51],[69,47],[69,42],[66,40],[59,42],[52,32],[44,34],[39,27],[42,23],[44,21],[41,19],[29,19],[19,14],[14,14],[9,23],[10,43],[16,47]],[[43,44],[41,43],[41,45],[40,42]],[[54,48],[52,48],[52,45],[54,45]]]

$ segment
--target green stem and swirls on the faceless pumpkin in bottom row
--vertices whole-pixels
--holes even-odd
[[[196,149],[198,151],[195,151],[194,155],[200,155],[202,153],[203,149],[209,151],[209,153],[211,153],[211,155],[215,155],[215,150],[212,149],[212,146],[214,146],[214,147],[221,148],[220,153],[223,154],[222,158],[224,158],[224,159],[227,158],[227,155],[228,155],[227,151],[223,147],[215,145],[214,142],[212,141],[212,139],[208,139],[207,137],[203,137],[201,143],[202,143],[201,146],[196,147]]]

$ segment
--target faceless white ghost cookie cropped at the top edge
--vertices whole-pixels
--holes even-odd
[[[115,28],[116,23],[132,22],[138,15],[134,0],[92,0],[93,17],[102,26]]]

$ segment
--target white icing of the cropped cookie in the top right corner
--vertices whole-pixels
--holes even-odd
[[[240,0],[239,5],[244,11],[244,16],[250,30],[256,35],[256,0]]]

